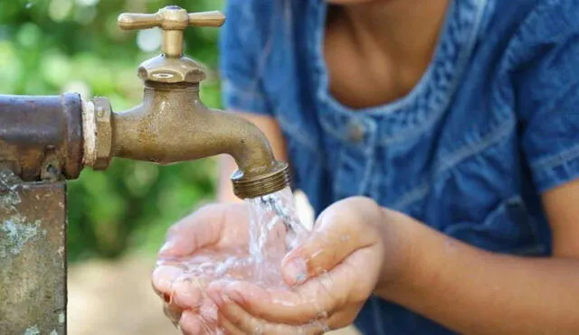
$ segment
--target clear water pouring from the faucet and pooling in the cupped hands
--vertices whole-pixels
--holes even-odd
[[[242,280],[264,288],[290,289],[281,275],[281,260],[308,234],[308,228],[298,218],[292,192],[286,188],[246,203],[250,220],[244,223],[240,219],[239,225],[246,225],[245,231],[239,231],[239,239],[244,242],[241,247],[208,247],[185,258],[161,259],[157,262],[160,274],[156,271],[154,275],[156,285],[163,285],[158,278],[164,277],[175,294],[182,292],[181,287],[193,284],[203,296],[206,286],[215,280]],[[164,275],[162,268],[172,270],[166,270]],[[211,320],[207,319],[211,316],[207,315],[215,313],[215,306],[206,296],[201,304],[200,314],[209,324]],[[173,321],[178,321],[178,317],[177,313],[177,320]],[[214,333],[209,329],[206,332]]]

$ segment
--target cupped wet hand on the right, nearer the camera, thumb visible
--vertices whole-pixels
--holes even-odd
[[[215,282],[208,294],[226,333],[322,333],[351,324],[364,302],[403,263],[397,213],[354,198],[325,210],[314,232],[283,260],[292,291],[247,282]],[[306,325],[306,326],[304,326]]]

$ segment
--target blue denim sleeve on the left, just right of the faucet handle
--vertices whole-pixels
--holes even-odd
[[[253,3],[253,0],[227,2],[227,21],[220,39],[223,106],[271,115],[261,82],[265,54],[260,30],[266,23]]]

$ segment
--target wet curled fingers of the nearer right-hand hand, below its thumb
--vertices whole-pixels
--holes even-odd
[[[208,294],[218,305],[227,300],[239,304],[256,318],[273,323],[300,325],[326,319],[349,304],[362,304],[372,293],[380,266],[377,247],[360,249],[324,275],[289,290],[267,290],[246,282],[210,285]],[[368,272],[362,280],[360,273]]]

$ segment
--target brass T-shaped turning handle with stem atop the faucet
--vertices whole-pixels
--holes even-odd
[[[163,53],[171,58],[183,55],[183,32],[187,27],[220,27],[224,22],[225,16],[220,12],[187,13],[176,5],[166,6],[156,14],[123,13],[118,19],[119,27],[123,30],[161,28]]]

